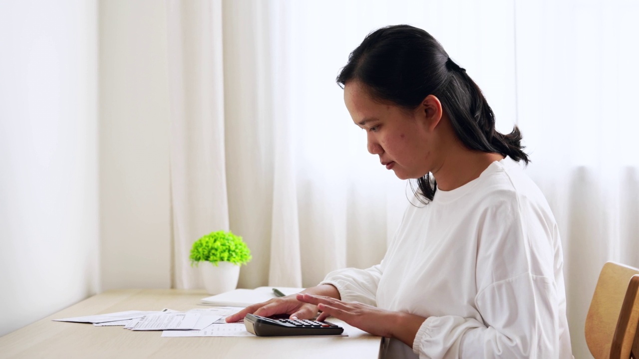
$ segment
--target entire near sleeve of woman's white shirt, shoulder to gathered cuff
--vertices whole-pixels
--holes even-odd
[[[420,358],[560,358],[555,238],[540,218],[520,199],[486,211],[475,273],[481,320],[428,317],[413,342]]]

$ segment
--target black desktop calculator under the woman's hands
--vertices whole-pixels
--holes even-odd
[[[271,319],[247,314],[244,318],[246,330],[260,337],[280,335],[339,335],[344,332],[341,326],[327,321],[306,319]]]

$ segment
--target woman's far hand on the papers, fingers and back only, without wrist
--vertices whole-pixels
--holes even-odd
[[[273,298],[268,302],[249,305],[245,309],[226,317],[226,323],[233,323],[243,319],[247,314],[270,317],[275,314],[290,314],[291,319],[312,319],[318,314],[317,305],[304,303],[297,300],[297,294]]]

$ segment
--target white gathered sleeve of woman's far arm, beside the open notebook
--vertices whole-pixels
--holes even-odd
[[[376,305],[377,287],[381,279],[381,264],[365,270],[344,268],[335,270],[319,284],[330,284],[337,288],[344,302],[360,302]]]

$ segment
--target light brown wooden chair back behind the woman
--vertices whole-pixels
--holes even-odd
[[[586,317],[595,359],[639,359],[639,269],[604,264]]]

